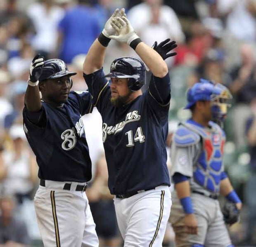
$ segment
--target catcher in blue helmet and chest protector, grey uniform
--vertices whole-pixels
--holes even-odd
[[[219,125],[231,97],[225,86],[204,79],[188,90],[185,109],[192,118],[180,123],[171,145],[170,221],[177,247],[233,246],[217,200],[221,193],[242,207],[222,162],[225,133]]]

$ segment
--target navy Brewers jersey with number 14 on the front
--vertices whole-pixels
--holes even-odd
[[[170,101],[169,75],[152,77],[149,89],[130,104],[116,107],[110,102],[109,82],[100,69],[84,78],[94,104],[102,115],[104,150],[111,194],[170,186],[166,165],[166,137]],[[156,101],[156,85],[167,85],[166,104]],[[151,90],[152,88],[152,90]],[[169,90],[169,91],[168,91]]]

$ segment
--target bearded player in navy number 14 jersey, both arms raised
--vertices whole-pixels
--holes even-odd
[[[102,64],[111,38],[135,49],[152,71],[144,94],[146,70],[140,59],[115,59],[110,73],[104,75]],[[176,45],[169,41],[156,43],[152,49],[133,31],[124,9],[116,9],[84,62],[88,90],[102,115],[108,186],[115,195],[117,222],[126,247],[161,246],[171,210],[165,144],[171,89],[164,59],[176,54],[167,54]]]

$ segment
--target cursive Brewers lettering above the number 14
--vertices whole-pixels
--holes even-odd
[[[126,119],[122,122],[117,123],[115,126],[108,126],[105,122],[102,125],[102,136],[103,136],[103,142],[106,141],[107,135],[110,134],[116,134],[120,131],[122,131],[123,127],[128,122],[134,122],[140,120],[140,115],[138,114],[138,111],[131,111],[126,114]]]

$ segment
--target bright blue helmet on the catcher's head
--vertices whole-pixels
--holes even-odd
[[[209,80],[200,79],[187,91],[188,104],[185,109],[190,109],[199,100],[209,100],[213,94],[214,83]]]

